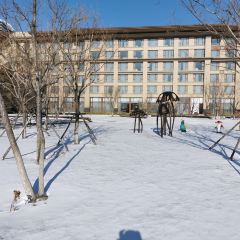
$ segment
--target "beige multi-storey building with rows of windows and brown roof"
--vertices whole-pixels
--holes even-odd
[[[140,104],[151,112],[164,91],[180,97],[179,114],[231,114],[234,106],[240,109],[235,59],[226,41],[204,27],[115,28],[109,34],[114,40],[104,49],[106,58],[99,59],[103,66],[94,74],[98,80],[82,95],[82,110],[111,112],[114,107],[129,112]],[[90,54],[98,48],[96,44]],[[73,97],[65,93],[66,87],[62,79],[52,102],[71,112]]]

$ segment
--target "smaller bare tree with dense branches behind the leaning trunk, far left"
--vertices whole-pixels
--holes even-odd
[[[23,116],[23,126],[27,122],[27,112],[33,107],[35,93],[29,77],[31,73],[31,61],[28,42],[17,42],[13,37],[5,39],[1,44],[0,56],[5,64],[1,64],[1,72],[5,78],[0,81],[2,88],[11,94],[15,99],[15,104]],[[4,51],[3,48],[7,49]],[[24,128],[22,137],[26,137],[26,128]]]

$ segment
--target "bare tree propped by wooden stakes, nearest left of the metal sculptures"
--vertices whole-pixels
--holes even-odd
[[[104,56],[107,41],[111,39],[104,29],[96,28],[96,19],[91,21],[84,11],[72,13],[70,17],[61,47],[65,83],[73,92],[74,99],[74,143],[79,144],[80,99],[88,87],[99,82],[98,73],[108,61]]]

